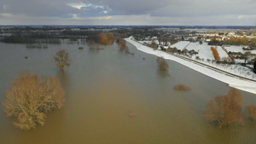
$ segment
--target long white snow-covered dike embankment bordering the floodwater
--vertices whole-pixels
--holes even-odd
[[[256,89],[255,89],[256,82],[247,81],[247,80],[240,79],[240,78],[230,77],[230,76],[225,75],[224,73],[212,71],[211,69],[209,69],[207,67],[197,65],[188,60],[183,60],[183,59],[177,58],[176,56],[167,54],[166,52],[163,52],[160,50],[153,50],[151,48],[148,48],[147,46],[144,46],[141,43],[137,43],[137,42],[131,40],[131,37],[125,38],[125,40],[129,43],[132,43],[133,45],[135,45],[137,47],[138,50],[141,50],[145,53],[148,53],[151,55],[163,56],[165,59],[177,61],[178,63],[182,64],[183,66],[188,66],[189,68],[194,69],[197,72],[201,72],[211,78],[215,78],[221,82],[229,84],[230,87],[234,87],[236,89],[241,89],[241,90],[256,94]],[[212,64],[212,66],[214,66],[214,64]],[[240,68],[239,67],[237,68],[236,66],[234,66],[233,68],[230,67],[230,69],[224,69],[224,70],[226,70],[227,72],[234,70],[234,72],[236,72],[235,70],[238,70],[238,69],[240,69]],[[242,71],[244,71],[244,70],[241,69],[240,72],[242,72]],[[255,74],[253,73],[253,75],[255,75]]]

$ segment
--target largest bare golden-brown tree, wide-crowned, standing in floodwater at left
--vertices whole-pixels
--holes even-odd
[[[3,108],[8,117],[16,118],[16,127],[22,130],[35,129],[37,124],[44,125],[47,112],[63,106],[64,95],[57,78],[39,78],[34,73],[20,73],[6,92]]]

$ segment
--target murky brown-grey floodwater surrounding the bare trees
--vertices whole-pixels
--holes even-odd
[[[256,123],[220,130],[202,115],[208,101],[228,93],[227,84],[171,60],[168,77],[159,71],[157,57],[127,45],[135,55],[119,51],[116,44],[96,51],[68,43],[49,44],[48,49],[0,43],[0,101],[12,80],[25,71],[59,78],[67,98],[65,107],[48,114],[44,126],[28,131],[15,128],[1,106],[0,143],[255,143]],[[53,59],[59,49],[66,49],[72,60],[64,73]],[[175,91],[177,84],[192,90]],[[241,95],[243,107],[256,105],[256,95],[243,91]],[[129,112],[137,117],[129,117]]]

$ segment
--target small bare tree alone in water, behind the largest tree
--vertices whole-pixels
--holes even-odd
[[[54,55],[55,64],[60,68],[60,70],[63,72],[64,68],[66,66],[70,66],[70,58],[65,49],[61,49]]]

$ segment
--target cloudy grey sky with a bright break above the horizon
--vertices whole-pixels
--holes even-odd
[[[256,0],[1,0],[0,25],[255,26]]]

